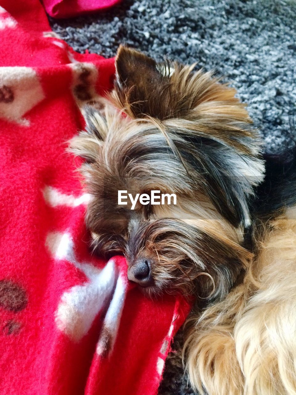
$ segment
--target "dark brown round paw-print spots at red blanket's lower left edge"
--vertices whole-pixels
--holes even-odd
[[[23,310],[28,304],[25,290],[12,280],[0,280],[0,307],[5,310],[17,313]],[[8,320],[2,331],[6,335],[17,334],[21,329],[21,323],[17,320]]]

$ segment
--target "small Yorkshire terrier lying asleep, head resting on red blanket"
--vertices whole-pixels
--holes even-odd
[[[236,90],[127,47],[114,90],[71,140],[94,250],[124,254],[148,296],[195,295],[184,357],[209,395],[296,394],[296,178],[264,180]],[[118,191],[176,205],[118,205]],[[256,197],[257,196],[257,197]]]

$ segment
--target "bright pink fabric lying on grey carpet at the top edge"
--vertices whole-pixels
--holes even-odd
[[[109,8],[119,2],[120,0],[43,0],[43,5],[51,17],[68,18]]]

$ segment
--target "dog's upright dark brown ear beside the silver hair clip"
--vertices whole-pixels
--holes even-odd
[[[113,99],[133,118],[150,116],[165,119],[172,64],[156,63],[135,49],[120,46],[116,55],[116,81]],[[161,98],[161,100],[160,100]]]

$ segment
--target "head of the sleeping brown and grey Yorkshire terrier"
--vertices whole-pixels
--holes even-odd
[[[263,178],[260,140],[236,91],[211,73],[156,63],[126,47],[105,107],[86,107],[71,141],[92,200],[87,225],[99,254],[124,254],[128,276],[148,294],[221,297],[251,258],[242,246],[248,199]],[[118,205],[175,194],[177,203]]]

